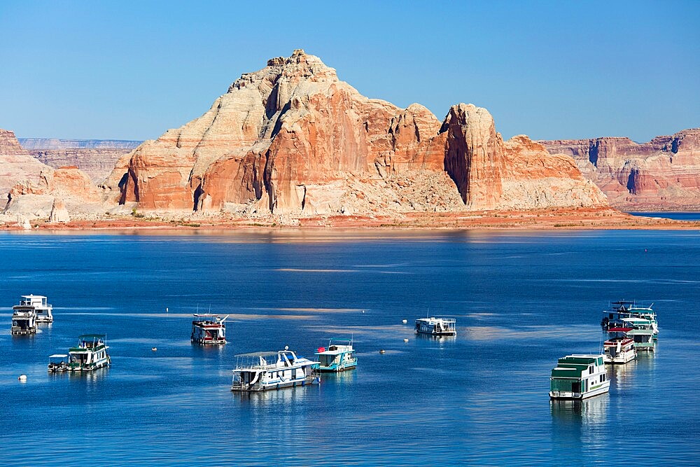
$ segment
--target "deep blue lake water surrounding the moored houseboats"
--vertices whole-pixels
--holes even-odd
[[[2,233],[0,463],[696,464],[699,272],[689,231]],[[55,323],[10,336],[28,293]],[[607,395],[550,403],[556,358],[598,349],[619,298],[655,303],[657,352],[609,370]],[[193,347],[210,307],[230,343]],[[416,337],[428,308],[458,336]],[[107,334],[111,368],[49,375],[83,332]],[[235,354],[349,335],[356,371],[229,390]]]

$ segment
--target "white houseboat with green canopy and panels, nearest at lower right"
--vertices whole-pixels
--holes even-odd
[[[559,358],[549,377],[549,398],[585,399],[610,390],[603,355],[567,355]]]

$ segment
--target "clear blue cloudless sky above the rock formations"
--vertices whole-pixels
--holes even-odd
[[[700,1],[0,0],[0,128],[153,139],[295,48],[367,97],[509,138],[700,127]]]

